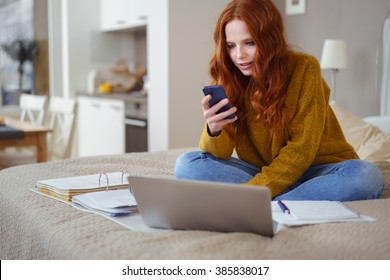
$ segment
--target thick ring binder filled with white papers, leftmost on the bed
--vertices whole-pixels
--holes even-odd
[[[74,195],[128,187],[127,178],[122,172],[40,180],[36,183],[38,192],[63,201],[72,201]]]

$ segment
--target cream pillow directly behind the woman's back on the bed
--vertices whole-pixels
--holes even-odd
[[[330,105],[340,122],[347,141],[355,148],[361,159],[369,161],[390,160],[390,133],[386,133],[347,112],[333,101]]]

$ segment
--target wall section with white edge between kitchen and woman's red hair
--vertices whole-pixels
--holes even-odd
[[[216,19],[228,0],[150,0],[149,150],[198,146]],[[211,4],[212,3],[212,4]]]

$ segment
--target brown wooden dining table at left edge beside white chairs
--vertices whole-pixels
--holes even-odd
[[[0,150],[7,147],[29,147],[37,148],[37,162],[47,161],[47,133],[52,129],[45,126],[34,125],[28,122],[21,122],[16,119],[6,118],[5,124],[9,127],[22,130],[23,139],[0,139]]]

